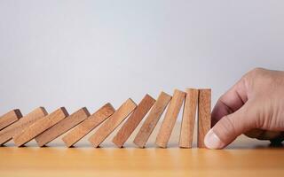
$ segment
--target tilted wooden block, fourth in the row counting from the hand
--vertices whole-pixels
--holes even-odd
[[[156,127],[159,119],[162,116],[162,112],[166,109],[169,104],[171,96],[161,92],[158,96],[157,101],[154,103],[153,108],[149,112],[146,120],[144,121],[142,127],[139,129],[138,134],[135,136],[134,143],[140,148],[144,148],[146,142],[148,141],[150,135],[152,134],[154,127]]]

